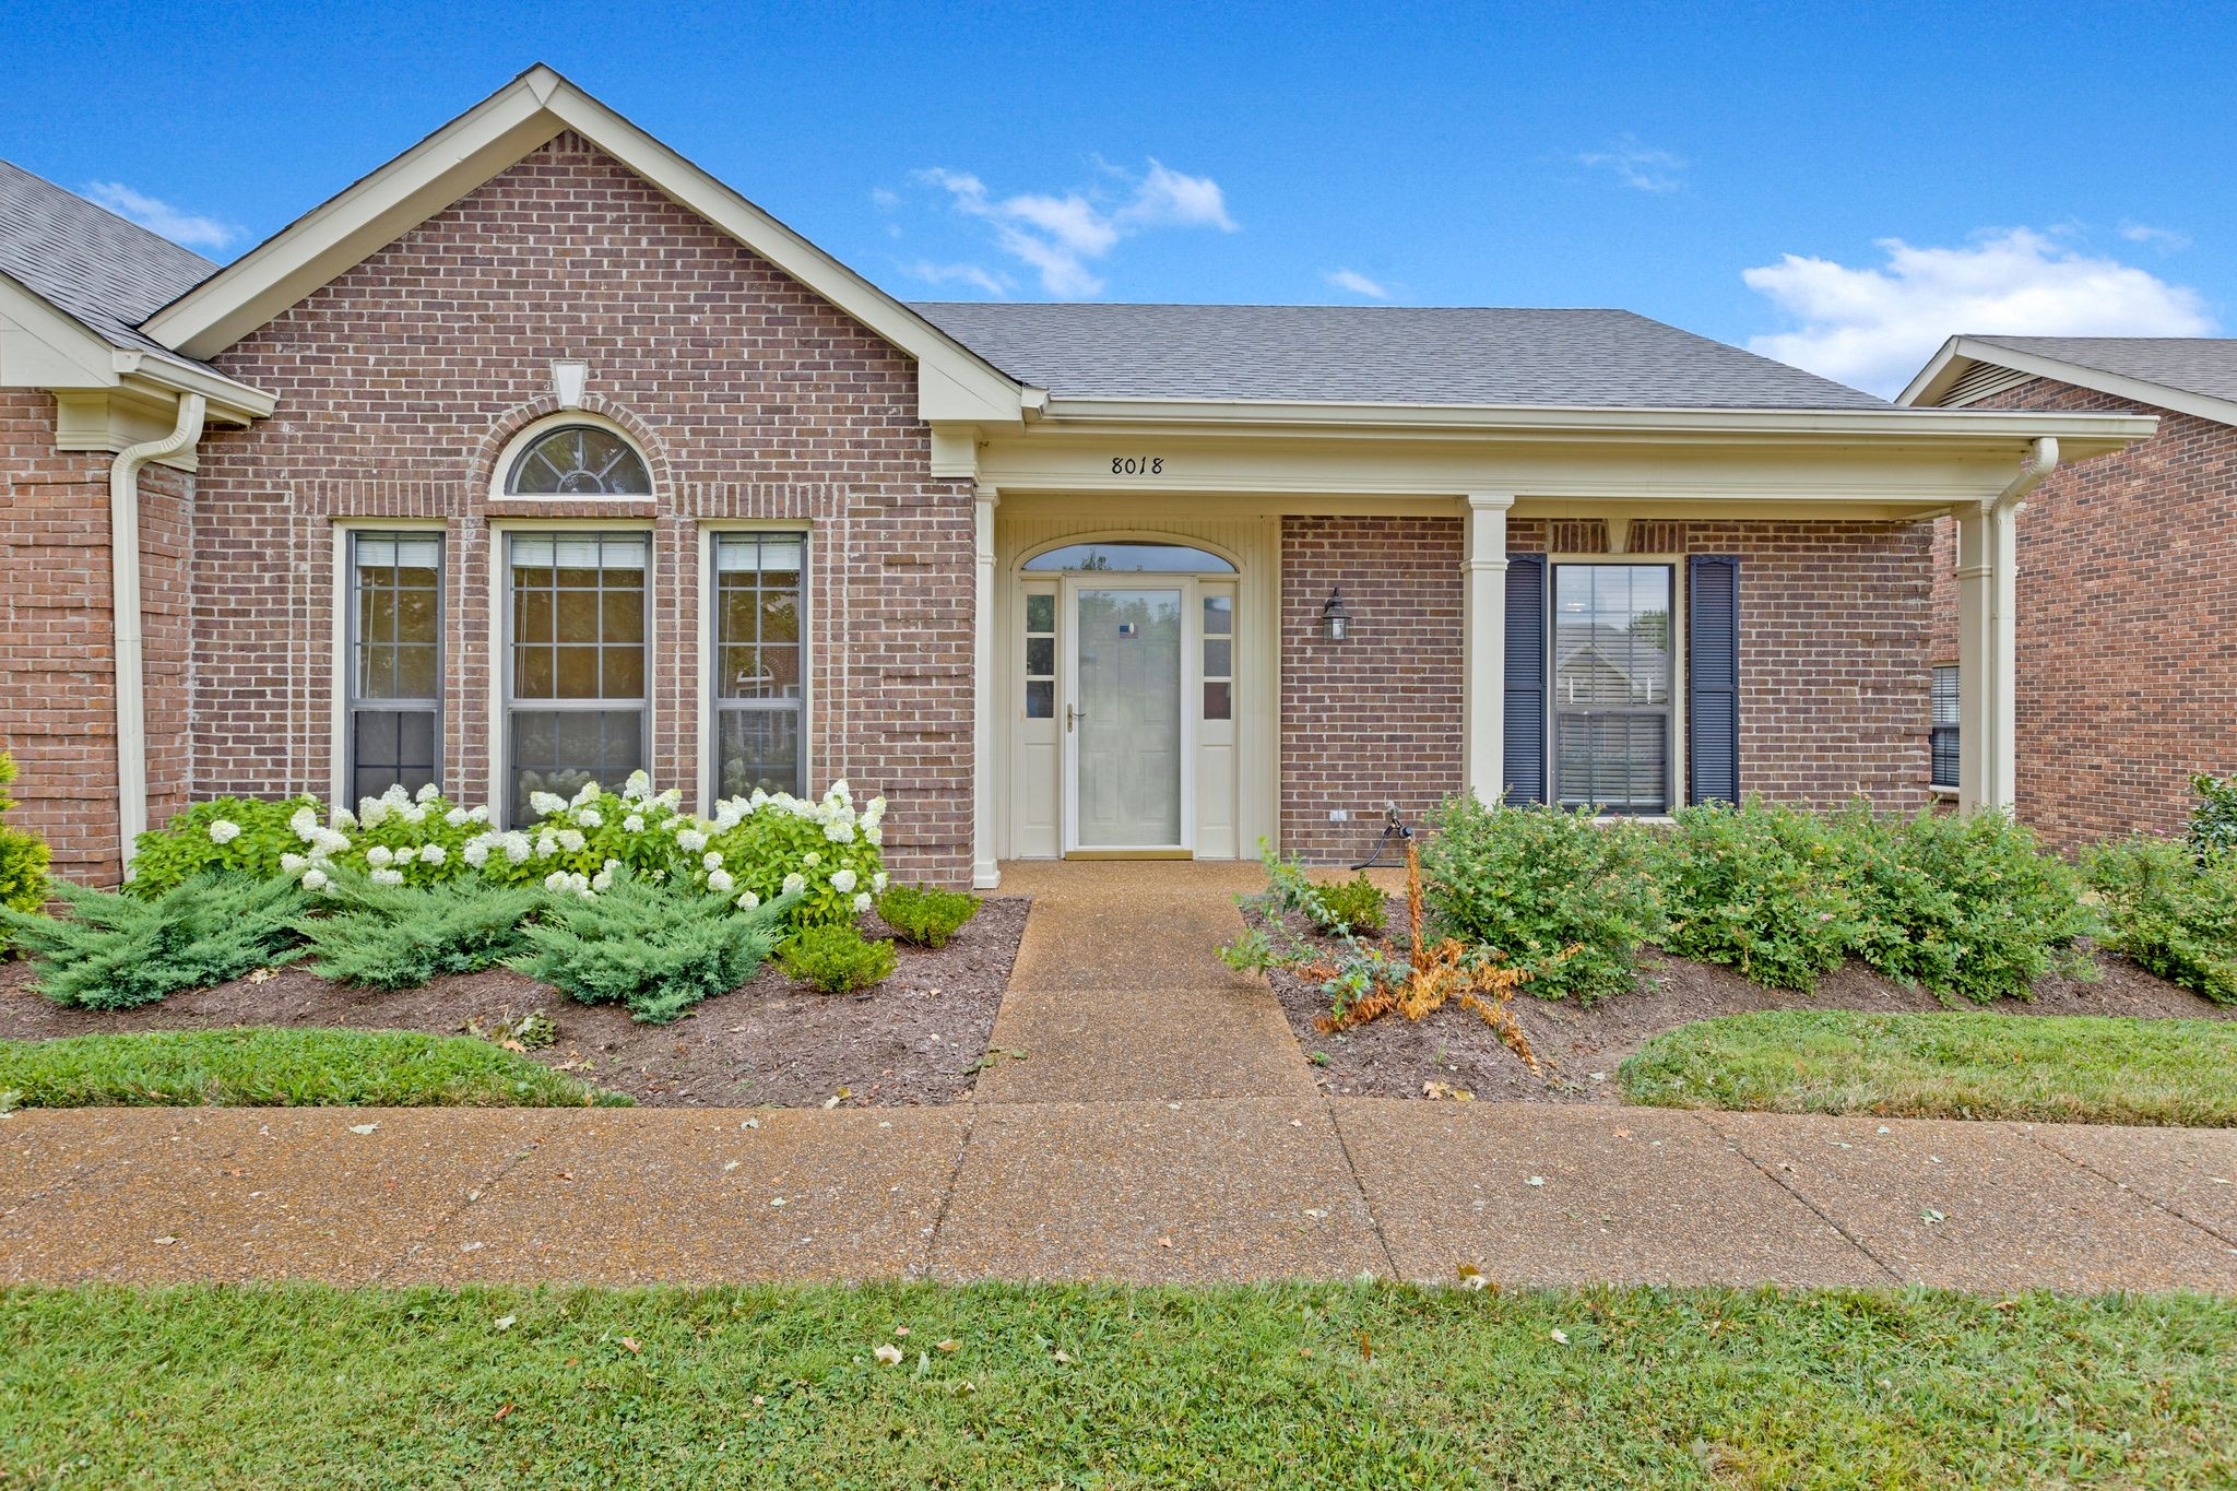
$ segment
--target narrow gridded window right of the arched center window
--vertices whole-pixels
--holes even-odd
[[[714,541],[714,796],[808,794],[808,648],[801,590],[808,534]]]

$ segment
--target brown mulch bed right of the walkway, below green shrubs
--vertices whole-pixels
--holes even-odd
[[[1291,919],[1297,932],[1309,923]],[[1391,925],[1403,932],[1405,908],[1391,905]],[[1322,943],[1324,939],[1309,937]],[[1602,999],[1593,1006],[1575,999],[1514,997],[1514,1017],[1530,1037],[1546,1073],[1532,1073],[1508,1051],[1483,1019],[1447,1004],[1420,1022],[1385,1015],[1344,1031],[1322,1035],[1315,1015],[1329,1013],[1329,999],[1311,984],[1289,972],[1271,972],[1275,995],[1289,1015],[1289,1026],[1313,1057],[1313,1080],[1322,1091],[1347,1098],[1425,1098],[1425,1084],[1441,1082],[1479,1100],[1528,1102],[1622,1102],[1617,1064],[1649,1037],[1714,1015],[1747,1010],[1942,1010],[1993,1008],[2007,1015],[2145,1015],[2188,1019],[2237,1019],[2237,1008],[2224,1008],[2186,988],[2177,988],[2127,959],[2096,955],[2098,981],[2049,977],[2036,986],[2031,1001],[2007,999],[1993,1006],[1951,1006],[1919,988],[1906,988],[1863,963],[1819,979],[1816,990],[1801,995],[1765,988],[1718,963],[1649,952],[1640,968],[1640,988]],[[1320,1055],[1327,1060],[1322,1062]]]

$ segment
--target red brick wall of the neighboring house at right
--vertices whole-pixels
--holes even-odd
[[[2237,771],[2237,429],[2049,378],[1975,407],[2159,416],[2020,514],[2018,814],[2063,847],[2179,834],[2190,776]]]

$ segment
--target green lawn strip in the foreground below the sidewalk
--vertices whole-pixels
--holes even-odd
[[[2230,1361],[2194,1294],[20,1288],[0,1482],[2203,1487]]]

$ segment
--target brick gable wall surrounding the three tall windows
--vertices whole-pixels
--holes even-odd
[[[488,501],[548,414],[550,362],[642,434],[658,501]],[[801,519],[812,778],[890,798],[897,872],[957,881],[971,834],[971,490],[928,476],[915,364],[575,136],[409,230],[221,353],[280,396],[204,445],[197,791],[329,791],[333,519],[450,536],[447,780],[494,794],[490,519],[655,525],[653,773],[700,780],[702,519]]]

